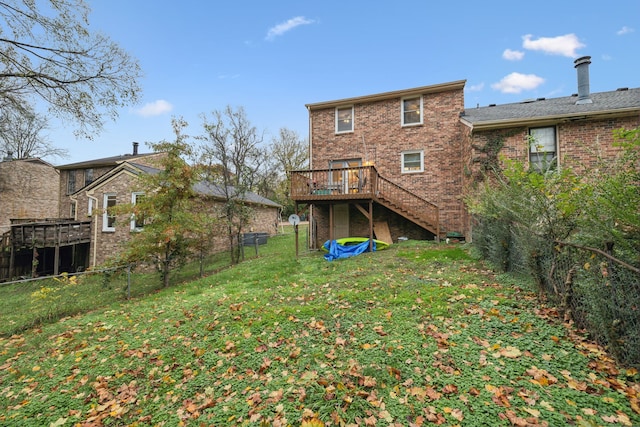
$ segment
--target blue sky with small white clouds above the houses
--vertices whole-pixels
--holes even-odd
[[[305,104],[466,80],[465,106],[640,87],[640,1],[88,0],[90,27],[138,58],[142,102],[92,141],[50,123],[68,164],[173,140],[171,118],[243,107],[265,141],[308,135]]]

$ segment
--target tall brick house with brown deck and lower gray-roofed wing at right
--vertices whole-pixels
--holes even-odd
[[[309,205],[311,246],[347,236],[470,236],[464,199],[500,155],[531,167],[613,156],[612,131],[640,125],[640,89],[464,108],[465,81],[308,104],[310,170],[291,197]],[[493,162],[493,163],[492,163]]]

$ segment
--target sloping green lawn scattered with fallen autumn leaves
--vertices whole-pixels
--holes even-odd
[[[0,424],[640,425],[635,369],[460,246],[260,251],[0,338]]]

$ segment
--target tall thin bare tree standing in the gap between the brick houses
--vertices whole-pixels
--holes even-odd
[[[205,135],[202,137],[203,164],[207,180],[218,186],[224,197],[223,220],[227,227],[231,262],[237,264],[242,254],[241,233],[251,219],[253,210],[247,204],[250,192],[259,176],[265,154],[260,148],[263,137],[251,125],[242,107],[224,112],[214,111],[212,118],[202,116]]]

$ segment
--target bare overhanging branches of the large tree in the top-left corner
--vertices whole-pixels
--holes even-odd
[[[0,0],[0,108],[44,101],[91,138],[138,101],[137,60],[90,31],[89,12],[84,0]]]

